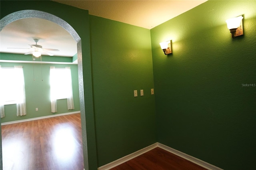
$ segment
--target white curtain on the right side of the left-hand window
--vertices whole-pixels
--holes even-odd
[[[16,84],[17,86],[17,98],[16,98],[16,106],[17,106],[17,116],[26,115],[26,95],[25,95],[25,83],[24,83],[24,74],[22,66],[14,66],[15,73],[17,75]]]

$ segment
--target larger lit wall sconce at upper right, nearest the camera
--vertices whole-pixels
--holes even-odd
[[[226,20],[228,29],[230,30],[230,32],[232,34],[232,38],[235,38],[236,36],[241,36],[244,34],[243,23],[242,23],[243,18],[244,17],[242,17],[242,16],[238,16],[238,17],[230,18],[230,19]]]

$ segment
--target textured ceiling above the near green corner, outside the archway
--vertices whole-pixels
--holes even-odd
[[[54,0],[89,11],[89,14],[154,28],[207,0]]]

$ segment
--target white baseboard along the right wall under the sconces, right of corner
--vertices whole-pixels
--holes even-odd
[[[171,147],[169,147],[169,146],[166,146],[166,145],[164,145],[164,144],[160,144],[160,143],[157,142],[157,146],[158,146],[159,148],[162,148],[162,149],[168,151],[168,152],[171,152],[172,154],[175,154],[175,155],[177,155],[177,156],[180,156],[181,158],[184,158],[184,159],[186,159],[186,160],[188,160],[188,161],[190,161],[190,162],[193,162],[194,164],[197,164],[197,165],[199,165],[199,166],[202,166],[203,168],[206,168],[206,169],[208,169],[208,170],[223,170],[223,169],[221,169],[221,168],[219,168],[219,167],[217,167],[217,166],[214,166],[214,165],[212,165],[212,164],[209,164],[208,162],[204,162],[203,160],[200,160],[200,159],[198,159],[198,158],[195,158],[195,157],[193,157],[193,156],[190,156],[190,155],[188,155],[188,154],[185,154],[185,153],[183,153],[183,152],[180,152],[180,151],[178,151],[178,150],[176,150],[176,149],[174,149],[174,148],[171,148]]]

